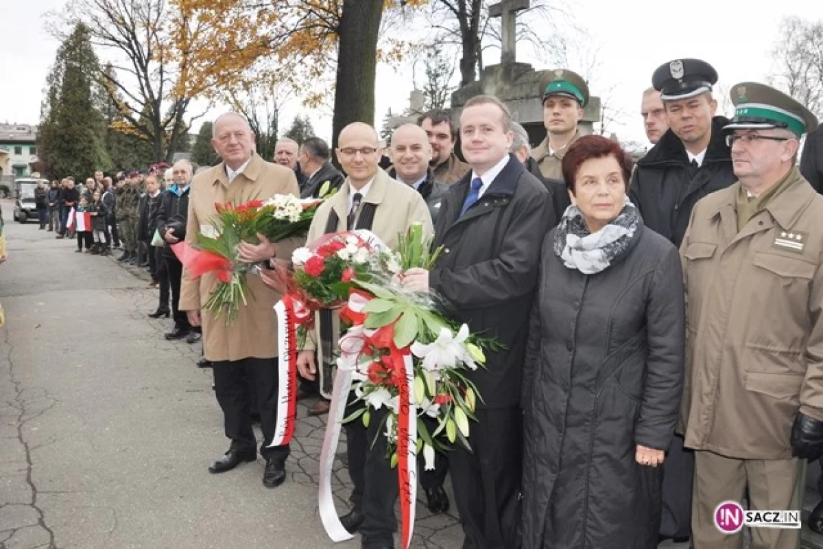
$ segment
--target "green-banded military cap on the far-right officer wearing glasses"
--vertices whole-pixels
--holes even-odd
[[[782,91],[757,82],[732,87],[734,118],[723,130],[784,128],[801,137],[817,128],[817,117]]]

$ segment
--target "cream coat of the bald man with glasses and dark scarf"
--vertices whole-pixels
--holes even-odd
[[[346,230],[346,219],[348,217],[349,193],[351,193],[351,183],[348,178],[343,183],[340,191],[328,201],[323,202],[318,208],[314,219],[309,227],[307,242],[311,244],[326,233],[328,218],[332,210],[337,214],[337,230]],[[374,175],[369,192],[363,198],[362,204],[374,204],[374,221],[371,223],[371,232],[377,235],[389,248],[396,248],[398,245],[398,235],[405,234],[412,223],[423,224],[424,238],[431,235],[432,227],[429,207],[425,200],[414,188],[407,184],[402,184],[396,179],[392,179],[388,174],[378,168]],[[363,212],[363,206],[360,212]],[[360,221],[360,220],[358,220]],[[356,222],[356,228],[360,228],[360,223]],[[320,326],[320,315],[315,316],[315,327]],[[337,314],[333,316],[332,334],[340,333],[340,322]],[[305,350],[315,350],[320,341],[319,329],[306,337]],[[337,347],[337,337],[332,337],[332,352]],[[318,353],[317,364],[319,365],[319,387],[320,393],[326,398],[332,398],[332,388],[334,385],[332,356],[323,356],[323,352]]]

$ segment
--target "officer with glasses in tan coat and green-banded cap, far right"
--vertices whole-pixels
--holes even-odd
[[[695,549],[742,549],[715,509],[746,492],[751,509],[802,509],[806,460],[823,453],[823,198],[795,167],[817,120],[761,84],[734,86],[732,101],[737,183],[697,202],[681,245]],[[752,528],[751,547],[799,537]]]

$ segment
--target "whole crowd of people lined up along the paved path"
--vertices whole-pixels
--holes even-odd
[[[303,242],[239,245],[241,260],[261,269],[231,324],[201,310],[216,277],[188,277],[170,245],[195,244],[226,202],[317,197],[326,183],[338,192],[308,240],[363,229],[391,246],[422,223],[443,253],[398,283],[435,292],[453,319],[501,346],[469,374],[483,397],[472,451],[419,468],[434,513],[449,509],[451,475],[463,547],[650,549],[674,538],[742,548],[742,531],[715,523],[718,505],[801,509],[807,461],[823,454],[823,198],[819,174],[807,171],[819,131],[797,168],[817,119],[756,82],[733,86],[734,115],[720,116],[717,72],[697,59],[664,63],[651,81],[642,114],[653,148],[636,163],[617,142],[580,131],[588,86],[560,69],[540,83],[547,135],[533,150],[490,95],[469,100],[458,120],[425,113],[388,145],[370,125],[350,124],[333,151],[342,172],[318,137],[282,139],[274,162],[264,160],[249,123],[229,113],[214,123],[219,165],[118,174],[116,190],[100,172],[82,192],[71,178],[55,182],[49,230],[63,238],[77,226],[68,212],[88,211],[105,222],[92,222],[93,239],[77,232],[78,251],[105,254],[122,240],[119,259],[140,265],[147,250],[160,287],[151,316],[174,315],[166,337],[201,330],[202,364],[213,370],[230,447],[209,471],[259,451],[263,485],[274,488],[290,454],[272,446],[275,270]],[[298,398],[315,399],[312,415],[329,411],[340,335],[337,312],[320,311],[299,350]],[[394,547],[397,530],[380,413],[369,426],[346,423],[353,489],[340,522],[365,549]],[[823,506],[809,525],[823,530]],[[751,528],[749,537],[776,549],[798,547],[799,535]]]

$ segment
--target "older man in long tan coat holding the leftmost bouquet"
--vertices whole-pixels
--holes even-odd
[[[186,242],[195,244],[198,232],[213,230],[215,204],[239,205],[254,199],[265,200],[275,194],[298,194],[293,171],[271,164],[254,152],[254,136],[249,123],[239,114],[224,114],[214,123],[212,146],[223,161],[194,176],[188,201]],[[244,263],[271,267],[272,260],[291,262],[291,253],[299,241],[284,240],[277,244],[265,238],[260,244],[241,243],[239,258]],[[249,388],[246,378],[257,388],[263,444],[260,453],[266,459],[263,485],[279,486],[286,479],[288,446],[269,448],[277,412],[277,328],[272,307],[280,299],[276,291],[263,285],[260,277],[250,273],[248,305],[240,305],[237,319],[226,325],[225,319],[201,314],[201,305],[217,286],[214,273],[192,280],[184,271],[181,287],[181,310],[188,321],[203,328],[203,351],[212,361],[217,401],[223,409],[226,436],[231,440],[228,452],[218,459],[210,472],[226,472],[244,461],[257,457],[257,442],[249,416]]]

